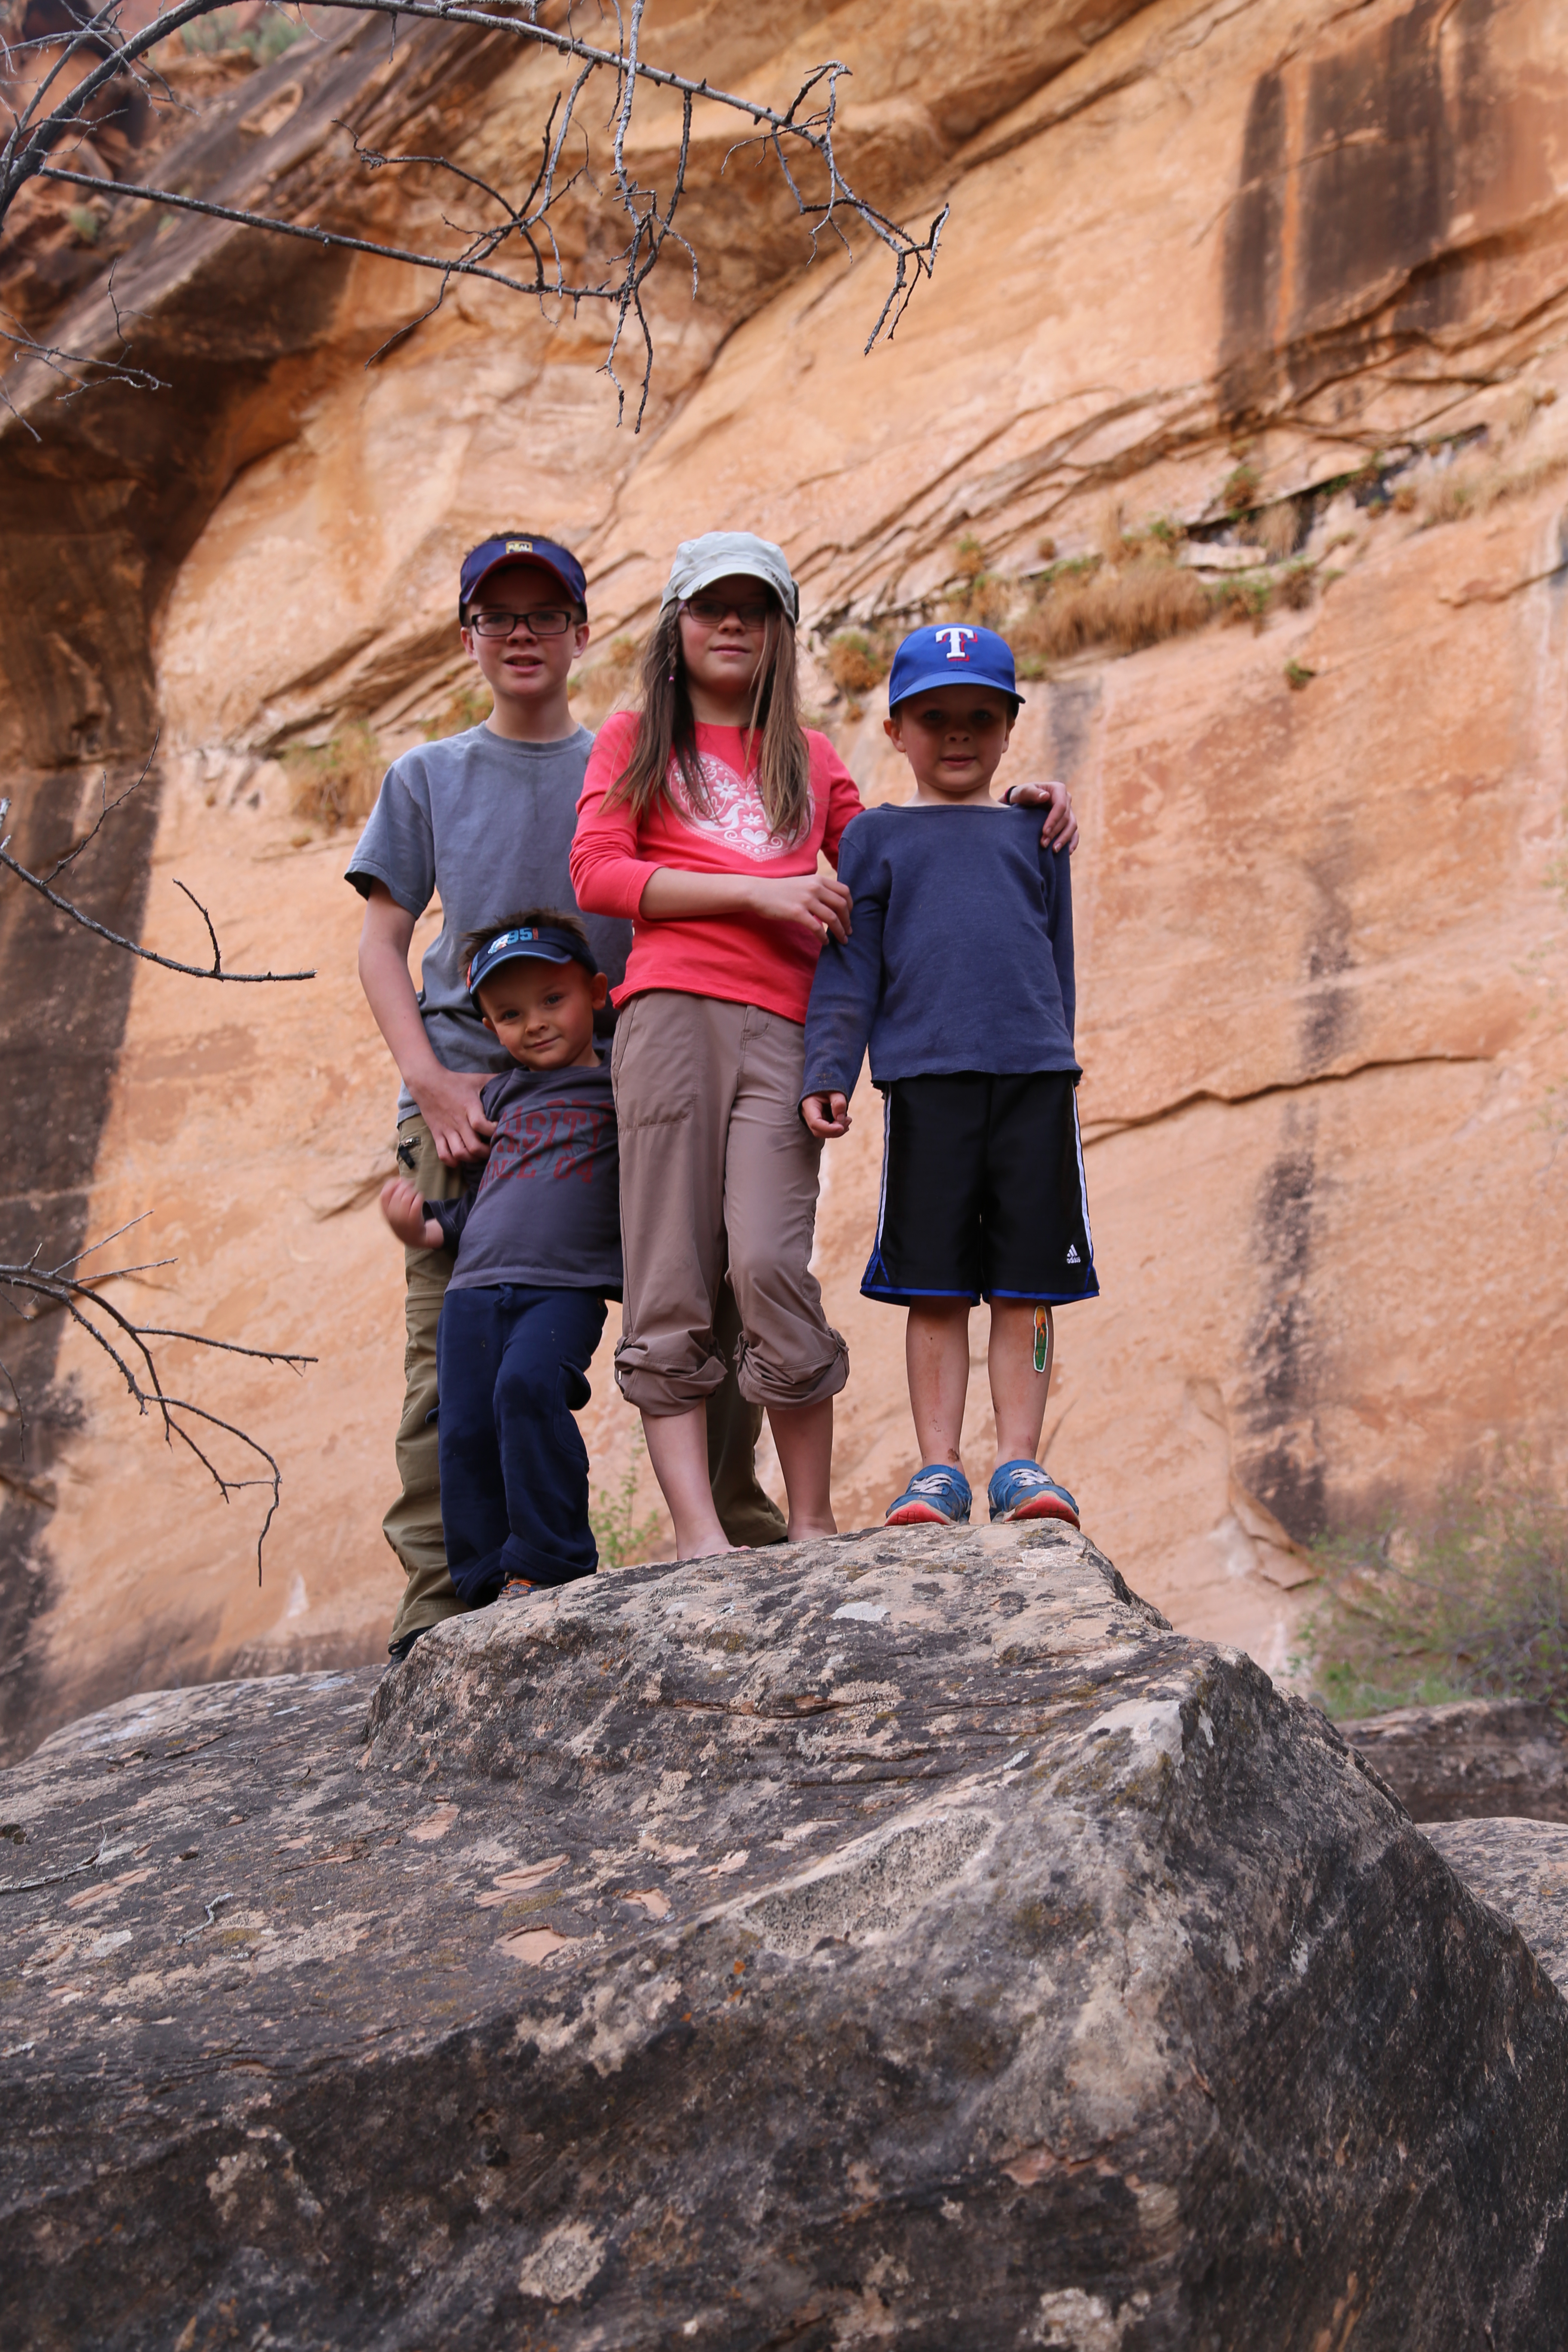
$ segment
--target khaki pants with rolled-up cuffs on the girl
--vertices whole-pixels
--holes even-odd
[[[804,1040],[799,1021],[757,1004],[668,988],[621,1009],[616,1381],[649,1414],[684,1414],[724,1381],[715,1324],[726,1256],[741,1395],[820,1404],[849,1378],[849,1350],[811,1272],[820,1143],[799,1115]]]

